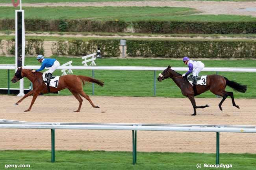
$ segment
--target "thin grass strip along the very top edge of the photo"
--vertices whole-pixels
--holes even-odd
[[[144,0],[23,0],[23,3],[43,2],[115,2],[115,1],[144,1]],[[254,1],[254,0],[201,0],[201,1]],[[10,0],[1,0],[1,3],[11,3]]]

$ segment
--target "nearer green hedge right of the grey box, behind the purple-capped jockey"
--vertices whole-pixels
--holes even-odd
[[[130,57],[256,58],[256,41],[128,40]]]

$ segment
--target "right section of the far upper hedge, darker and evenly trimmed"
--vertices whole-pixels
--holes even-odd
[[[132,22],[137,33],[240,34],[256,33],[256,22]]]

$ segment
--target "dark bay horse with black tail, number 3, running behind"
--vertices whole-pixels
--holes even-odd
[[[209,107],[208,104],[206,104],[205,106],[196,106],[196,102],[195,102],[196,95],[200,95],[201,93],[204,93],[205,91],[210,90],[213,94],[222,96],[223,99],[219,103],[219,109],[222,111],[221,105],[228,96],[231,97],[233,106],[239,108],[239,106],[236,105],[235,103],[233,92],[225,91],[226,86],[229,86],[241,93],[245,93],[245,91],[247,90],[246,85],[241,85],[241,84],[238,84],[237,82],[230,81],[226,77],[223,77],[221,75],[208,75],[206,78],[206,85],[205,86],[197,85],[195,86],[195,90],[194,90],[193,86],[188,82],[187,76],[182,77],[180,73],[177,73],[176,71],[171,69],[170,66],[168,66],[167,69],[165,69],[157,79],[158,81],[161,82],[162,80],[167,78],[173,79],[173,81],[180,88],[182,95],[189,98],[194,108],[194,114],[192,114],[193,116],[197,115],[197,112],[196,112],[197,108]]]

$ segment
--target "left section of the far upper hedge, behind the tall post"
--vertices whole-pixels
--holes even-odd
[[[122,32],[128,26],[122,21],[91,21],[85,19],[25,19],[26,31]],[[0,30],[15,30],[14,19],[1,19]]]

